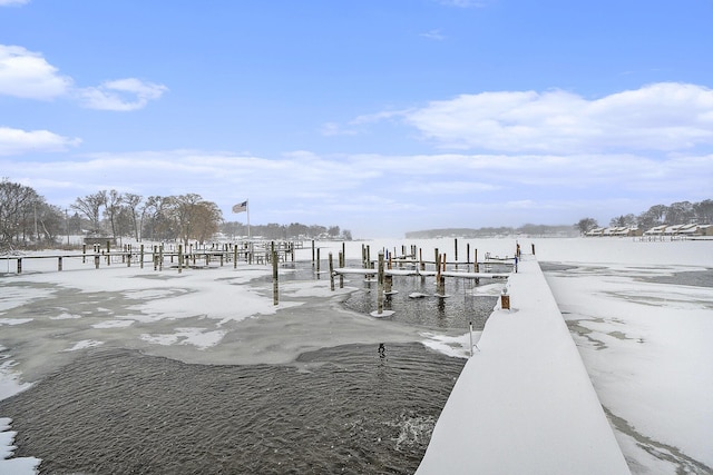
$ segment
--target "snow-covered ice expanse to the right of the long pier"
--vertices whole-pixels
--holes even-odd
[[[712,473],[713,241],[539,247],[575,266],[547,279],[631,471]],[[687,271],[706,271],[709,287],[667,279]]]

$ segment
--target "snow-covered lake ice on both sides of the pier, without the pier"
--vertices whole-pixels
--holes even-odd
[[[482,259],[485,253],[512,256],[516,239],[459,240],[460,261],[466,260],[467,243],[471,255],[478,248]],[[547,279],[632,472],[663,474],[681,466],[710,471],[713,346],[706,339],[713,334],[713,293],[639,277],[713,268],[713,241],[519,243],[524,253],[534,244],[540,261],[577,267],[549,271]],[[455,257],[452,239],[348,243],[346,257],[359,259],[362,244],[370,246],[372,258],[382,247],[399,254],[402,245],[422,248],[423,256],[432,256],[438,247],[449,260]],[[341,250],[341,243],[319,246],[324,260],[328,251],[336,257]],[[310,251],[299,251],[297,258],[309,259]],[[248,285],[256,277],[270,277],[266,266],[226,265],[178,274],[121,265],[96,270],[80,263],[65,259],[59,273],[53,259],[26,260],[23,274],[16,275],[14,263],[0,261],[0,398],[92,346],[208,364],[284,363],[309,349],[384,339],[421,340],[450,355],[468,353],[468,335],[424,334],[335,311],[335,300],[352,289],[349,283],[332,294],[329,278],[284,281],[275,307],[270,280]],[[271,319],[279,310],[284,318]],[[282,331],[285,326],[290,334]],[[61,331],[53,331],[57,328]],[[11,422],[0,419],[0,447],[11,447],[10,429]],[[3,461],[11,452],[0,449],[0,474],[33,473],[37,459]]]

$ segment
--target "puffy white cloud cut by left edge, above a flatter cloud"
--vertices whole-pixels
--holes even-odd
[[[71,85],[41,55],[0,44],[0,95],[47,100],[66,95]]]

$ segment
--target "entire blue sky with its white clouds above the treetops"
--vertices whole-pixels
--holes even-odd
[[[713,198],[713,1],[0,0],[0,176],[354,237]]]

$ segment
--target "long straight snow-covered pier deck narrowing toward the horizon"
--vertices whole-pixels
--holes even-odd
[[[486,323],[417,474],[628,474],[539,264]]]

